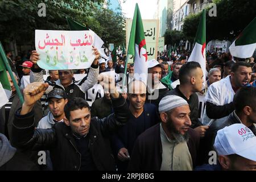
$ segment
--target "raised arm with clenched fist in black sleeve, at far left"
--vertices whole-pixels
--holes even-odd
[[[24,103],[18,110],[13,122],[14,146],[32,150],[48,150],[55,144],[55,129],[36,129],[34,127],[35,102],[38,101],[48,88],[48,84],[33,82],[23,90]]]

